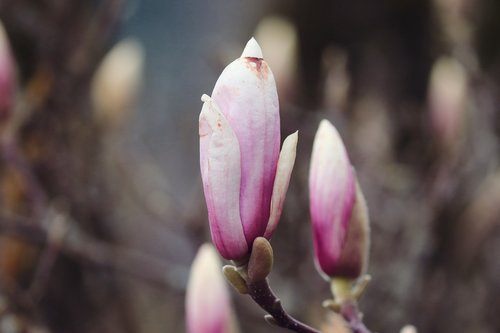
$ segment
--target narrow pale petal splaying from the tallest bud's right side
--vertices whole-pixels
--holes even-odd
[[[288,184],[290,183],[290,176],[292,175],[293,166],[295,164],[297,140],[298,134],[295,132],[290,134],[283,142],[283,148],[281,149],[278,160],[276,177],[274,178],[271,213],[266,232],[264,233],[264,237],[267,239],[272,237],[274,230],[278,226],[281,211],[283,210],[283,202],[285,201]]]

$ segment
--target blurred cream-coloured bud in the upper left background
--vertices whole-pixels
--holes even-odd
[[[116,44],[104,57],[92,82],[98,124],[119,128],[135,106],[142,83],[144,50],[134,39]]]

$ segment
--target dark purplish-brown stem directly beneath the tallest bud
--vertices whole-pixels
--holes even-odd
[[[271,290],[267,279],[248,283],[248,293],[255,303],[273,317],[273,323],[277,326],[298,333],[320,333],[296,320],[283,309],[281,301]]]

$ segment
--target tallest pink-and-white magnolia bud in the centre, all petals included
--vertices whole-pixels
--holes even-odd
[[[270,239],[277,226],[297,133],[279,153],[276,85],[253,38],[202,101],[200,166],[212,240],[224,258],[246,260],[255,238]]]

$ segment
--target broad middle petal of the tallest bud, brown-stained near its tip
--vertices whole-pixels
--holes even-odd
[[[243,57],[224,69],[212,93],[240,144],[240,216],[249,243],[264,234],[269,220],[280,145],[276,84],[259,50],[250,41]]]

